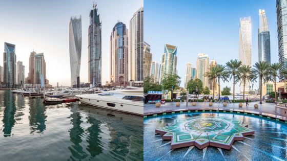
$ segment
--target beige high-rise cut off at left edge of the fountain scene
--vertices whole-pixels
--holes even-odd
[[[144,42],[144,77],[150,75],[151,73],[151,64],[152,64],[152,53],[151,46]]]

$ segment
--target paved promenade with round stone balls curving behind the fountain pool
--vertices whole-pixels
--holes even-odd
[[[233,110],[247,110],[254,112],[262,112],[275,114],[275,103],[265,103],[259,104],[259,101],[250,102],[249,106],[245,106],[245,103],[242,103],[243,106],[239,107],[239,103],[228,103],[226,107],[223,106],[223,103],[213,103],[212,106],[209,106],[208,102],[197,102],[196,106],[192,106],[192,103],[189,102],[189,105],[186,106],[186,102],[180,102],[180,106],[177,107],[175,102],[169,102],[165,104],[161,104],[160,107],[155,107],[155,104],[145,104],[144,106],[144,115],[150,115],[154,113],[162,113],[165,111],[180,111],[180,110],[188,110],[188,109],[214,109],[214,108],[224,108],[224,109],[233,109]],[[258,109],[254,108],[254,104],[258,104]]]

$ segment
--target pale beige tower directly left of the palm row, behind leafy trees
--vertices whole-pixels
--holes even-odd
[[[209,57],[204,53],[199,53],[196,61],[196,78],[202,81],[203,87],[208,87],[208,77],[204,74],[208,72]]]

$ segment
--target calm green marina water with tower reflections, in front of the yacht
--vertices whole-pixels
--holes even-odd
[[[0,90],[0,160],[142,160],[142,117]]]

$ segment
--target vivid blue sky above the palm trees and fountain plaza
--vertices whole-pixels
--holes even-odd
[[[164,44],[177,45],[177,71],[184,85],[185,65],[196,66],[200,52],[226,64],[238,57],[239,18],[251,16],[252,64],[258,61],[259,9],[268,18],[271,63],[278,62],[277,16],[275,0],[173,1],[145,0],[145,41],[151,45],[153,61],[161,62]],[[231,83],[222,83],[224,86]],[[257,83],[256,83],[257,85]],[[257,88],[257,86],[254,88]],[[237,84],[236,92],[239,92]],[[232,89],[232,87],[231,87]]]

